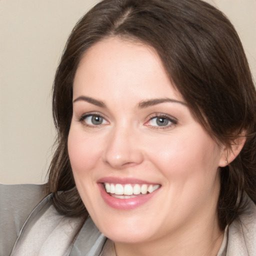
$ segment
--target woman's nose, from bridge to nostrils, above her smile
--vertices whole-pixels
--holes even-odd
[[[143,153],[138,135],[127,127],[116,127],[108,134],[103,158],[106,164],[115,169],[141,163]]]

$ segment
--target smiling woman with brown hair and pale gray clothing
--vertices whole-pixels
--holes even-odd
[[[254,255],[255,103],[211,5],[98,3],[58,66],[48,195],[10,255]]]

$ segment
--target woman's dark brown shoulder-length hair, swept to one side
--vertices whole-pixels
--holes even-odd
[[[256,93],[234,27],[201,0],[103,0],[75,25],[53,84],[57,140],[47,192],[52,192],[55,207],[69,216],[87,215],[67,152],[72,83],[84,52],[109,36],[154,47],[195,119],[216,141],[230,146],[245,132],[240,154],[220,169],[217,210],[220,228],[224,228],[244,209],[245,192],[256,201]]]

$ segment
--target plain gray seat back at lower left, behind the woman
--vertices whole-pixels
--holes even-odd
[[[29,213],[43,198],[44,185],[0,184],[0,255],[8,255]]]

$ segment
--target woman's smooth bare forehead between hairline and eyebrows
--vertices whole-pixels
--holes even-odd
[[[83,55],[74,79],[74,94],[82,90],[100,95],[106,88],[112,96],[136,90],[150,98],[165,97],[167,91],[181,97],[154,48],[116,37],[92,45]]]

